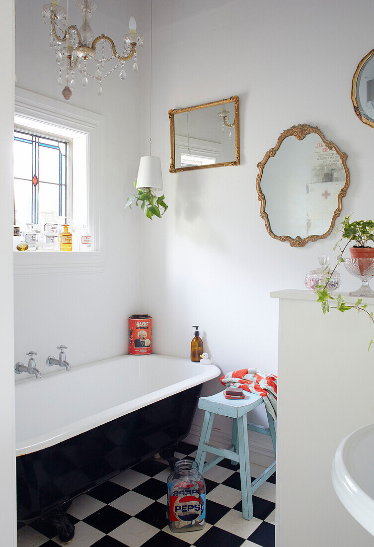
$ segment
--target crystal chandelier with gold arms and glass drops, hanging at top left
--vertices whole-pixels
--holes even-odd
[[[100,34],[97,38],[93,38],[90,23],[92,12],[96,10],[97,3],[94,0],[77,0],[76,5],[82,13],[83,22],[80,28],[75,25],[67,26],[68,12],[58,5],[57,0],[52,0],[50,4],[43,6],[43,21],[49,20],[51,22],[49,45],[55,50],[59,71],[57,82],[60,86],[63,85],[63,72],[66,71],[66,86],[62,95],[67,100],[72,96],[72,90],[75,88],[77,70],[82,74],[82,87],[85,88],[88,85],[88,78],[99,82],[98,95],[101,96],[103,94],[103,80],[118,67],[121,67],[120,80],[124,80],[126,78],[125,63],[132,57],[134,58],[133,71],[138,72],[136,52],[139,51],[139,48],[141,51],[143,46],[143,36],[136,33],[136,22],[131,17],[129,33],[123,37],[123,51],[117,53],[116,46],[109,36]],[[100,42],[101,48],[98,48]],[[109,44],[109,48],[108,45],[105,46],[105,42]],[[88,72],[87,61],[90,61],[94,67],[93,74]],[[110,63],[110,68],[106,63]]]

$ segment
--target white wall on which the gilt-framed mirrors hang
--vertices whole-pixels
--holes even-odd
[[[372,10],[369,0],[360,3],[360,13]],[[372,21],[360,18],[358,28],[357,17],[347,0],[153,2],[152,154],[161,156],[169,205],[162,220],[140,219],[141,307],[153,316],[155,351],[188,356],[197,323],[223,372],[276,372],[277,302],[269,292],[303,288],[317,256],[335,256],[333,235],[292,248],[269,237],[260,219],[256,166],[284,129],[317,125],[346,152],[343,215],[372,217],[374,131],[351,103],[353,73],[373,47]],[[231,95],[240,98],[241,165],[169,173],[168,110]],[[357,286],[342,277],[343,290]]]

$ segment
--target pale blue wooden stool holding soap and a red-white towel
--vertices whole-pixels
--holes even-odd
[[[233,464],[239,462],[243,517],[250,520],[253,516],[252,494],[275,472],[276,462],[272,463],[252,482],[248,429],[270,435],[274,453],[276,453],[276,425],[268,410],[266,410],[266,414],[268,415],[269,427],[247,423],[247,413],[256,406],[264,404],[264,399],[254,393],[244,393],[245,399],[226,399],[223,392],[211,395],[211,397],[200,397],[199,409],[205,410],[205,417],[195,461],[199,465],[199,472],[203,475],[213,465],[221,462],[223,458],[230,459]],[[209,444],[215,414],[233,418],[231,445],[225,449]],[[206,452],[216,454],[216,456],[205,463]]]

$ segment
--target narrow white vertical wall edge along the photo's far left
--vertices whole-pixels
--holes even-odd
[[[13,347],[13,125],[14,2],[2,2],[0,84],[0,531],[1,545],[16,545]]]

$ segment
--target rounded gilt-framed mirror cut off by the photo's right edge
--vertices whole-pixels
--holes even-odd
[[[361,59],[356,68],[351,97],[357,117],[374,127],[374,49]]]

